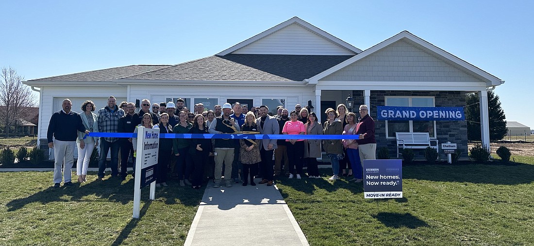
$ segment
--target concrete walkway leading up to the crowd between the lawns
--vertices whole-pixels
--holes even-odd
[[[184,245],[309,245],[276,186],[208,183]]]

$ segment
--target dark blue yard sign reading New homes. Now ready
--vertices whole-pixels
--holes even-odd
[[[364,198],[402,198],[402,160],[364,160]]]

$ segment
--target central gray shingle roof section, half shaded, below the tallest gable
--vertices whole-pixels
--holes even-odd
[[[249,54],[209,56],[123,80],[302,81],[351,57]]]

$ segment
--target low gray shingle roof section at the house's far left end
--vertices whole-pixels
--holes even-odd
[[[52,76],[48,78],[34,79],[28,81],[111,81],[154,70],[159,70],[168,66],[170,65],[130,65],[124,67],[106,68],[89,72]]]

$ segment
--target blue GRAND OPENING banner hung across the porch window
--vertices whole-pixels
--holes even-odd
[[[378,120],[465,120],[463,107],[377,106]]]

